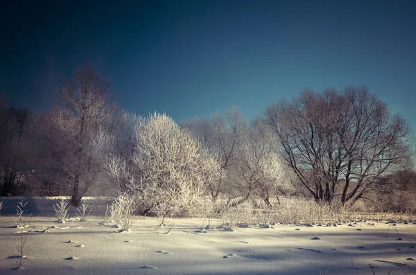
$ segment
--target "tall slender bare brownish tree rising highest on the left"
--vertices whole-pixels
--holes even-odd
[[[116,127],[110,83],[89,66],[77,69],[73,80],[57,90],[58,105],[46,122],[47,139],[55,159],[62,163],[63,180],[71,188],[71,204],[99,181],[101,166],[93,141],[101,130]]]

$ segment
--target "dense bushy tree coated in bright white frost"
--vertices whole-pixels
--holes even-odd
[[[122,141],[129,144],[128,150],[110,145],[117,142],[115,135],[102,133],[96,141],[98,151],[104,152],[101,159],[110,177],[137,196],[141,211],[162,205],[170,211],[192,206],[219,177],[216,160],[165,114],[132,121],[133,139]]]

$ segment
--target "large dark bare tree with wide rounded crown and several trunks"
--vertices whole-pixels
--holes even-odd
[[[317,202],[339,196],[342,204],[354,204],[412,153],[404,118],[367,87],[304,89],[290,102],[270,105],[265,121],[279,138],[282,159]]]

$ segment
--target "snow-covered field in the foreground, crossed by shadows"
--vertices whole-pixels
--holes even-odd
[[[62,224],[53,218],[58,199],[24,198],[28,227],[17,229],[21,199],[0,198],[0,274],[416,274],[413,221],[225,231],[214,220],[215,229],[200,233],[198,218],[175,218],[164,228],[154,217],[137,217],[131,232],[119,233],[114,222],[103,223],[106,202],[87,200],[87,221]],[[24,268],[16,269],[22,233]]]

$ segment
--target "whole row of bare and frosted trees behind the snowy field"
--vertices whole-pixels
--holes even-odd
[[[142,212],[207,196],[273,208],[295,193],[378,204],[408,194],[416,178],[408,123],[367,87],[304,89],[252,121],[233,107],[178,125],[124,112],[110,84],[83,67],[46,114],[1,103],[0,135],[1,196],[69,195],[73,206],[84,195],[123,195]]]

